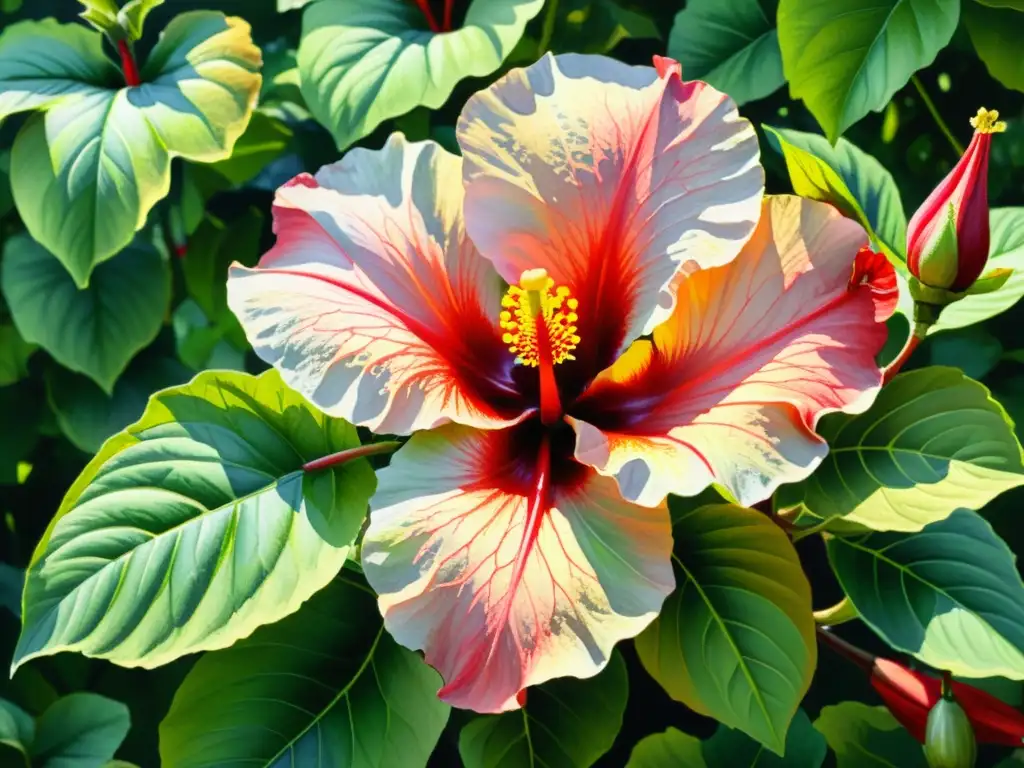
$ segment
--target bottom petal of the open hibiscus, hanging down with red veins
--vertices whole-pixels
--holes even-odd
[[[517,709],[526,686],[553,677],[597,674],[674,587],[664,505],[625,502],[613,480],[565,457],[549,504],[531,509],[534,478],[515,468],[536,456],[514,431],[414,435],[379,474],[362,543],[387,630],[441,673],[441,698],[477,712]]]

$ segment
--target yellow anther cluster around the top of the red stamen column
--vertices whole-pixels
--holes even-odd
[[[544,269],[527,269],[518,286],[509,287],[502,298],[499,316],[505,332],[502,341],[516,355],[516,362],[536,367],[541,362],[538,322],[544,323],[552,362],[574,360],[572,350],[580,343],[575,322],[580,302],[569,296],[565,286],[555,287],[555,281]]]

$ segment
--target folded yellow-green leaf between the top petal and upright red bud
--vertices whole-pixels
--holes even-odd
[[[896,181],[878,160],[844,138],[833,146],[813,133],[764,129],[785,159],[797,195],[836,206],[859,221],[890,260],[903,260],[906,214]]]

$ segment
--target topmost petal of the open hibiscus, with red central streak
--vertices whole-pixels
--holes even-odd
[[[581,380],[668,316],[684,267],[724,264],[760,214],[757,137],[679,65],[547,55],[466,103],[466,226],[509,283],[543,267],[580,300]]]

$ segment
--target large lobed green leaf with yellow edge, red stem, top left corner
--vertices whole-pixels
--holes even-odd
[[[167,195],[172,158],[230,155],[259,92],[259,66],[249,26],[213,11],[176,16],[132,88],[116,88],[100,35],[80,26],[24,22],[0,37],[0,119],[46,108],[14,141],[14,202],[79,286]]]

